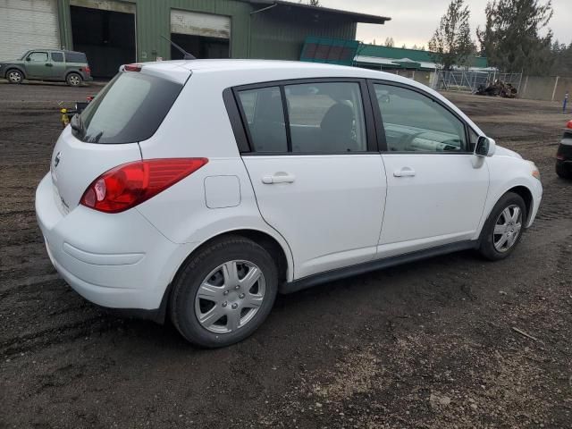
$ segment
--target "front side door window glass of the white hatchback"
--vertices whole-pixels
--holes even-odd
[[[465,152],[465,124],[431,97],[375,84],[388,151]]]

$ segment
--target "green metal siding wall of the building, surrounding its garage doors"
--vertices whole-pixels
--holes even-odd
[[[356,37],[357,23],[338,15],[324,15],[320,21],[299,11],[284,16],[271,9],[251,15],[256,10],[251,4],[234,0],[122,1],[136,5],[138,61],[155,61],[157,56],[170,59],[171,46],[161,35],[171,34],[171,9],[230,16],[232,58],[298,60],[307,36]],[[58,0],[58,15],[62,45],[72,49],[70,0]]]

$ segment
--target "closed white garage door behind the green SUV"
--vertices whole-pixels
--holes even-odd
[[[0,0],[0,60],[60,48],[56,0]]]

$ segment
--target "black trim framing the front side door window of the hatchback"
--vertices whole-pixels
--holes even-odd
[[[398,87],[398,88],[404,88],[404,89],[408,89],[411,91],[416,92],[417,94],[421,94],[422,96],[428,97],[429,99],[431,99],[433,102],[437,103],[438,105],[441,105],[442,108],[444,108],[447,112],[449,112],[450,114],[452,114],[455,118],[458,119],[459,122],[461,122],[461,124],[463,125],[463,130],[465,133],[465,149],[466,150],[462,150],[462,151],[447,151],[447,152],[432,152],[432,151],[423,151],[423,152],[390,152],[389,147],[387,146],[387,139],[385,137],[385,128],[383,126],[383,115],[382,115],[382,111],[379,107],[379,104],[377,103],[376,100],[376,96],[375,96],[375,84],[378,85],[386,85],[386,86],[390,86],[390,87]],[[378,144],[380,147],[380,152],[384,153],[384,154],[395,154],[395,155],[403,155],[403,154],[417,154],[417,155],[431,155],[431,154],[441,154],[441,155],[467,155],[467,154],[472,154],[473,152],[468,150],[469,145],[470,145],[470,136],[469,136],[469,125],[467,124],[467,122],[461,118],[455,111],[451,110],[450,107],[448,105],[445,105],[442,103],[441,100],[439,100],[438,98],[433,97],[431,94],[425,92],[423,89],[419,89],[419,88],[415,88],[412,86],[409,86],[407,84],[404,83],[400,83],[400,82],[394,82],[391,80],[378,80],[378,79],[368,79],[367,80],[367,86],[370,92],[370,98],[372,99],[372,105],[374,106],[374,116],[375,116],[375,129],[378,130],[378,135],[377,135],[377,139],[378,139]],[[374,101],[375,100],[375,101]]]

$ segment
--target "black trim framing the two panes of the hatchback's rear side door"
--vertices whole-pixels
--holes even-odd
[[[367,150],[364,152],[340,152],[340,153],[331,153],[331,152],[304,152],[304,153],[293,153],[291,148],[291,136],[290,136],[290,118],[288,113],[288,105],[285,97],[285,89],[284,87],[289,85],[302,85],[302,84],[309,84],[309,83],[328,83],[328,82],[354,82],[358,84],[359,87],[359,95],[362,101],[362,108],[364,111],[364,122],[366,124],[366,147]],[[240,97],[238,93],[240,91],[251,90],[251,89],[261,89],[261,88],[273,88],[278,87],[280,88],[281,97],[282,97],[282,112],[284,115],[284,122],[286,127],[286,136],[287,136],[287,144],[288,144],[288,152],[257,152],[253,149],[252,145],[252,136],[250,131],[248,130],[248,121],[247,116],[240,104]],[[229,91],[234,98],[234,106],[227,105],[228,95],[225,96],[224,94]],[[231,118],[231,126],[232,130],[234,131],[235,138],[237,140],[237,145],[239,146],[240,154],[247,155],[247,156],[310,156],[310,155],[364,155],[364,154],[372,154],[372,153],[379,153],[379,147],[377,144],[377,131],[375,129],[375,120],[374,120],[374,103],[370,99],[371,95],[367,88],[366,79],[363,78],[306,78],[306,79],[292,79],[292,80],[273,80],[267,82],[259,82],[259,83],[252,83],[248,85],[240,85],[237,87],[232,88],[225,88],[223,90],[223,99],[225,99],[224,103],[226,105],[227,113]],[[240,129],[235,129],[236,127],[236,114],[239,114],[240,122],[242,126]],[[232,119],[234,116],[234,119]],[[234,125],[233,125],[234,123]],[[244,141],[246,139],[246,142]],[[248,147],[248,148],[247,148]]]

